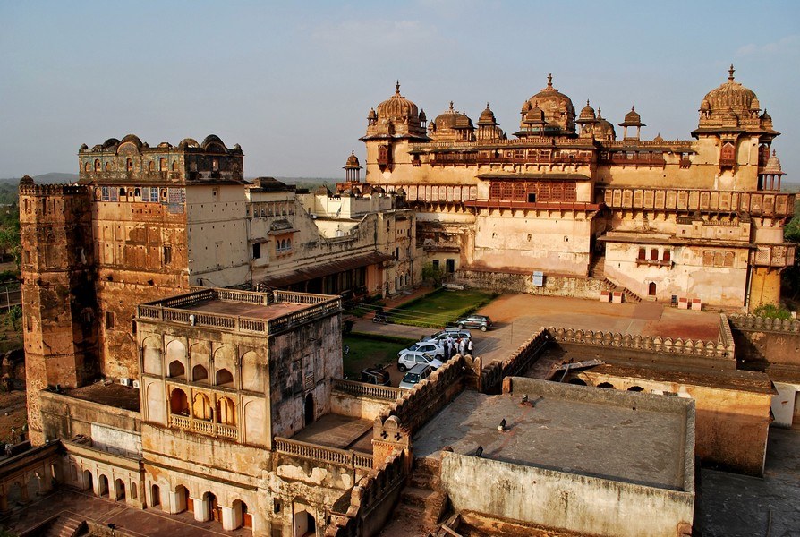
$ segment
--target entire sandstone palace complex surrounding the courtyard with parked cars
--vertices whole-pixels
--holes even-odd
[[[247,181],[215,135],[111,138],[81,146],[77,183],[24,177],[34,447],[0,463],[0,511],[66,485],[270,537],[372,537],[409,511],[442,535],[690,535],[695,456],[761,475],[773,416],[800,420],[796,321],[720,315],[715,341],[541,328],[413,390],[343,378],[343,299],[424,266],[519,293],[779,302],[795,195],[733,67],[690,140],[643,139],[633,107],[617,138],[552,77],[520,115],[511,136],[489,105],[429,122],[397,83],[368,114],[365,177],[353,151],[334,190]]]

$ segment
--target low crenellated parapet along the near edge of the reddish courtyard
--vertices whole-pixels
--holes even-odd
[[[682,339],[680,337],[641,336],[603,332],[601,330],[575,330],[574,328],[548,328],[548,333],[557,343],[595,345],[610,348],[630,349],[663,354],[683,354],[707,358],[733,359],[733,342],[714,343],[701,339]]]

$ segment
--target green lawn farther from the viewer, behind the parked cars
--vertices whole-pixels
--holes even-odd
[[[389,312],[392,322],[441,328],[490,303],[498,294],[480,289],[438,290]]]

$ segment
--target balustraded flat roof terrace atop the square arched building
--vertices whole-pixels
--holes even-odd
[[[140,304],[140,320],[166,321],[231,332],[276,334],[342,309],[342,299],[329,294],[194,287],[156,302]]]

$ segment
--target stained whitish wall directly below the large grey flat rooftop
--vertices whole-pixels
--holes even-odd
[[[475,483],[481,483],[480,492]],[[657,489],[454,452],[442,453],[442,484],[456,511],[591,535],[675,537],[694,519],[694,490]]]

